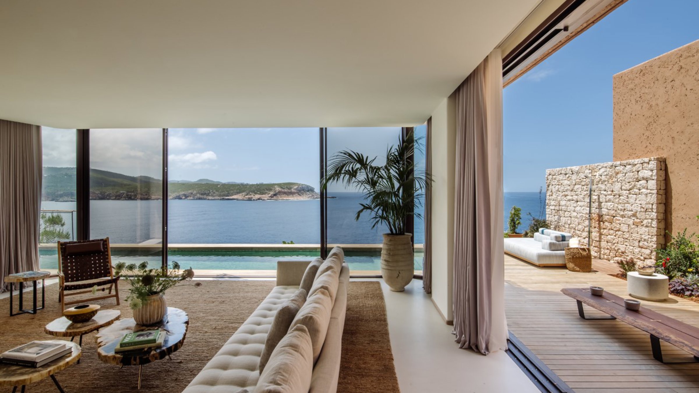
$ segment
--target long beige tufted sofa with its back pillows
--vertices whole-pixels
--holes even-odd
[[[342,248],[336,247],[325,261],[278,262],[278,286],[183,393],[296,392],[300,387],[303,392],[335,393],[349,283],[344,260]],[[299,296],[303,292],[299,288],[306,287],[308,296]],[[296,299],[300,309],[288,312],[289,303]],[[289,328],[278,329],[279,322],[273,325],[278,311],[280,320],[293,318]],[[274,331],[283,338],[278,343],[273,340],[275,349],[260,373],[266,339]]]

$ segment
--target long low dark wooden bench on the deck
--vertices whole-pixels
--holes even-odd
[[[661,340],[691,353],[694,356],[694,360],[699,360],[699,328],[691,324],[680,322],[645,307],[641,307],[637,311],[627,310],[624,306],[624,299],[606,291],[602,296],[591,294],[588,288],[563,288],[561,292],[577,301],[577,312],[580,317],[586,320],[618,319],[649,333],[651,335],[653,357],[658,362],[663,362],[663,352],[661,352],[660,347]],[[610,316],[586,317],[582,303]]]

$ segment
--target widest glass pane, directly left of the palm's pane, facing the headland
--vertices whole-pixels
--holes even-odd
[[[168,154],[168,259],[275,271],[319,256],[319,129],[170,129]]]

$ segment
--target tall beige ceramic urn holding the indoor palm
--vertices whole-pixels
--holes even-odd
[[[410,284],[415,274],[415,259],[412,256],[412,234],[384,234],[381,248],[381,276],[391,291],[401,292]]]

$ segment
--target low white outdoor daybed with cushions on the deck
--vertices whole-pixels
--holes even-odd
[[[539,229],[533,238],[505,238],[505,253],[536,266],[565,266],[571,234]]]

